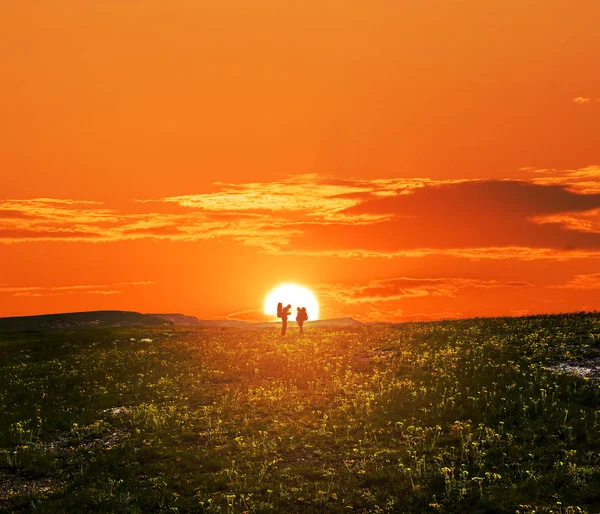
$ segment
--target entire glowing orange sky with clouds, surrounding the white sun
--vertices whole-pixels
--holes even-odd
[[[0,3],[0,316],[600,306],[597,0]]]

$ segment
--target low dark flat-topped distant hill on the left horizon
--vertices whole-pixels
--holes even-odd
[[[171,321],[129,311],[67,312],[0,318],[0,330],[47,330],[90,327],[160,327]]]

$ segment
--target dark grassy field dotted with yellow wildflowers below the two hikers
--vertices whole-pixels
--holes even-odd
[[[0,333],[0,509],[600,512],[600,314]]]

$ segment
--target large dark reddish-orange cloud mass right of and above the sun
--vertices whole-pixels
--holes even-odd
[[[415,190],[410,195],[368,200],[349,215],[378,215],[369,224],[305,222],[290,247],[302,251],[377,254],[434,249],[551,248],[600,250],[600,235],[531,218],[600,207],[600,194],[582,195],[561,186],[524,181],[478,181]]]

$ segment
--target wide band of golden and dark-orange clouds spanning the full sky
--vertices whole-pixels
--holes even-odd
[[[600,167],[522,180],[344,179],[304,174],[215,191],[98,202],[0,201],[0,243],[229,241],[270,254],[394,258],[600,256]],[[532,176],[533,175],[533,176]]]

